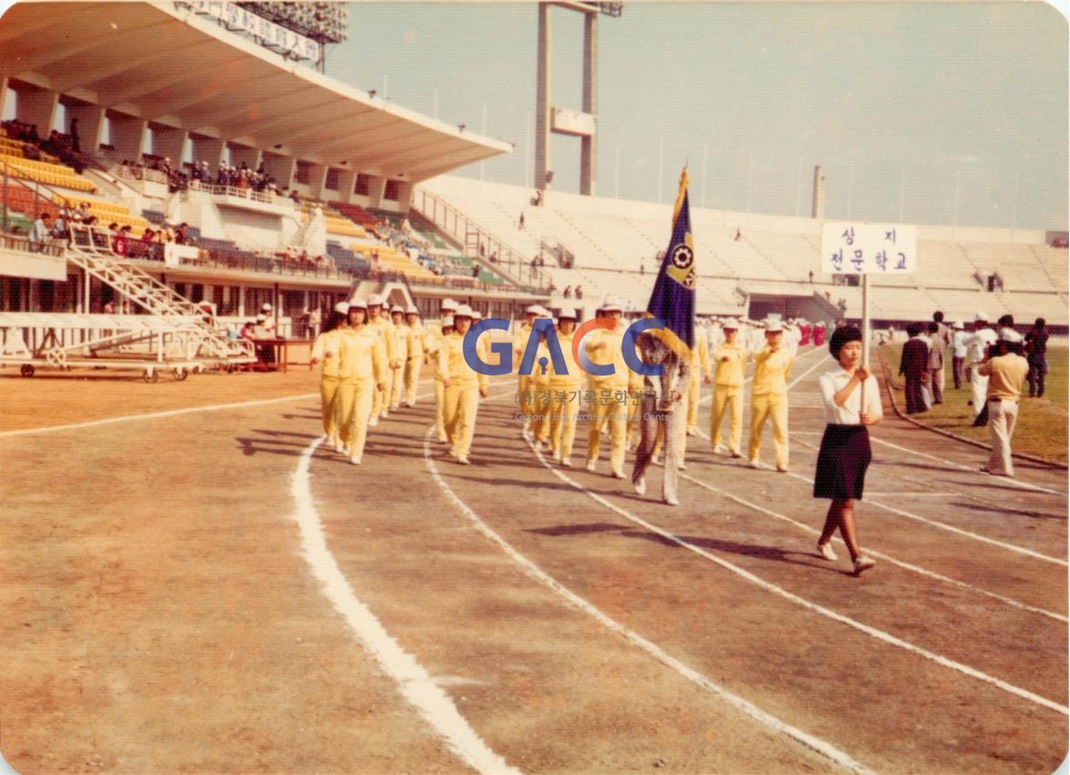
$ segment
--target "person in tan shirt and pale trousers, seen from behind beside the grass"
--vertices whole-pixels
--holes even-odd
[[[989,429],[992,454],[981,468],[985,474],[1013,477],[1010,439],[1018,421],[1018,403],[1029,371],[1028,361],[1022,357],[1022,335],[1013,328],[1003,328],[999,340],[984,356],[977,373],[988,377]]]

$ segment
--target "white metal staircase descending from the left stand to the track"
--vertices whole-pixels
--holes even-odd
[[[75,266],[110,285],[124,297],[153,315],[178,317],[175,328],[196,329],[196,352],[185,357],[214,359],[226,365],[256,361],[255,345],[246,339],[232,339],[227,329],[189,299],[183,298],[159,280],[117,258],[108,246],[108,235],[90,227],[72,226],[66,259]]]

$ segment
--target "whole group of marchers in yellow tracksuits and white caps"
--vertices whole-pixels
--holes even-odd
[[[625,454],[633,448],[640,424],[643,376],[624,359],[622,345],[628,322],[622,320],[623,305],[609,299],[596,315],[601,325],[587,332],[584,353],[595,363],[612,363],[613,373],[593,375],[580,367],[574,347],[579,314],[571,309],[561,310],[554,334],[565,368],[560,373],[554,368],[546,336],[541,336],[531,373],[519,376],[518,416],[523,419],[524,437],[539,450],[548,445],[554,462],[569,467],[577,425],[585,414],[586,469],[597,469],[601,437],[608,435],[610,476],[624,479]],[[551,317],[551,313],[539,306],[529,307],[514,332],[515,369],[528,351],[539,317]],[[468,465],[479,400],[487,398],[488,389],[487,375],[474,370],[464,357],[464,337],[478,320],[478,312],[452,299],[442,303],[438,331],[425,329],[416,307],[389,308],[378,295],[367,301],[354,299],[337,305],[312,347],[312,363],[322,363],[322,417],[327,444],[360,465],[368,429],[391,412],[414,406],[422,368],[433,363],[439,441],[449,445],[457,463]],[[766,324],[765,346],[756,352],[737,342],[737,331],[734,320],[723,321],[717,334],[721,341],[712,346],[706,327],[696,327],[690,381],[676,397],[675,410],[686,417],[686,422],[676,425],[676,465],[682,469],[687,436],[697,435],[703,384],[714,386],[710,441],[715,451],[743,456],[743,386],[747,362],[753,360],[750,465],[759,466],[762,432],[766,421],[771,420],[777,469],[788,470],[786,381],[794,348],[783,345],[779,321]],[[479,338],[477,351],[482,360],[491,362],[487,339]],[[725,415],[730,420],[727,448],[721,444]],[[659,439],[655,460],[661,446]]]

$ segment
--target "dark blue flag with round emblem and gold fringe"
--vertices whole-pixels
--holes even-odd
[[[681,358],[691,359],[694,345],[694,286],[699,274],[694,266],[694,239],[691,237],[691,213],[687,204],[687,168],[679,174],[679,192],[672,214],[672,238],[661,262],[654,293],[646,305],[651,316],[666,322],[663,329],[651,329]]]

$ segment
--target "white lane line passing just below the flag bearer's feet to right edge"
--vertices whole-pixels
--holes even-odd
[[[858,631],[860,631],[862,633],[866,633],[867,635],[869,635],[871,637],[874,637],[877,640],[886,642],[886,644],[888,644],[890,646],[895,646],[897,648],[903,649],[904,651],[908,651],[911,653],[918,654],[919,656],[922,656],[922,657],[924,657],[924,658],[927,658],[927,660],[929,660],[931,662],[934,662],[937,665],[941,665],[942,667],[947,667],[947,668],[950,668],[950,669],[956,670],[958,672],[961,672],[961,673],[963,673],[965,676],[969,676],[970,678],[976,678],[979,681],[983,681],[984,683],[988,683],[988,684],[991,684],[993,686],[996,686],[997,688],[1000,688],[1004,692],[1007,692],[1009,694],[1015,695],[1017,697],[1021,697],[1022,699],[1028,700],[1029,702],[1034,702],[1034,703],[1036,703],[1038,706],[1041,706],[1043,708],[1048,708],[1049,710],[1056,711],[1058,713],[1061,713],[1063,715],[1070,715],[1070,708],[1067,708],[1067,706],[1061,706],[1058,702],[1054,702],[1054,701],[1052,701],[1052,700],[1050,700],[1050,699],[1048,699],[1045,697],[1041,697],[1038,694],[1034,694],[1033,692],[1029,692],[1028,689],[1021,688],[1020,686],[1015,686],[1015,685],[1013,685],[1011,683],[1008,683],[1007,681],[1004,681],[1003,679],[995,678],[994,676],[990,676],[987,672],[982,672],[982,671],[980,671],[980,670],[978,670],[976,668],[969,667],[968,665],[964,665],[961,662],[956,662],[954,660],[950,660],[950,658],[948,658],[946,656],[942,656],[941,654],[937,654],[935,652],[929,651],[928,649],[921,648],[920,646],[915,646],[914,644],[911,644],[911,642],[908,642],[906,640],[903,640],[902,638],[896,637],[895,635],[891,635],[890,633],[886,633],[883,630],[877,630],[876,627],[870,626],[869,624],[863,624],[862,622],[857,621],[855,619],[852,619],[849,616],[844,616],[843,614],[838,614],[835,610],[831,610],[830,608],[826,608],[823,605],[819,605],[817,603],[813,603],[813,602],[811,602],[809,600],[806,600],[805,598],[800,598],[799,595],[795,594],[794,592],[789,592],[783,587],[778,587],[777,585],[771,584],[770,582],[766,582],[764,578],[761,578],[760,576],[754,575],[750,571],[744,570],[743,568],[740,568],[740,567],[738,567],[736,564],[733,564],[732,562],[729,562],[728,560],[721,559],[720,557],[717,557],[716,555],[713,555],[713,554],[706,552],[705,549],[699,547],[699,546],[696,546],[692,543],[688,543],[684,539],[677,538],[676,536],[674,536],[673,533],[669,532],[668,530],[664,530],[664,529],[658,527],[657,525],[654,525],[654,524],[652,524],[649,522],[646,522],[642,517],[636,516],[631,512],[629,512],[629,511],[627,511],[625,509],[622,509],[621,507],[618,507],[615,503],[607,500],[606,498],[603,498],[602,496],[598,495],[597,493],[592,493],[585,486],[583,486],[579,482],[575,481],[570,477],[562,474],[560,470],[557,470],[556,468],[554,468],[553,466],[551,466],[549,463],[547,463],[546,458],[542,456],[542,453],[539,452],[539,451],[537,451],[537,450],[535,450],[534,447],[532,448],[532,451],[535,454],[535,456],[538,459],[539,463],[541,463],[547,469],[549,469],[550,472],[552,472],[555,477],[557,477],[559,479],[561,479],[563,482],[571,485],[576,490],[579,490],[581,493],[585,494],[587,497],[592,498],[596,502],[601,503],[602,506],[605,506],[610,511],[612,511],[612,512],[614,512],[616,514],[620,514],[625,520],[628,520],[629,522],[632,522],[632,523],[635,523],[637,525],[640,525],[640,526],[646,528],[647,530],[649,530],[652,532],[655,532],[655,533],[657,533],[658,536],[661,536],[664,539],[668,539],[669,541],[672,541],[674,544],[677,544],[678,546],[682,546],[683,548],[686,548],[689,552],[693,552],[694,554],[699,555],[700,557],[703,557],[703,558],[709,560],[710,562],[713,562],[713,563],[715,563],[717,565],[720,565],[721,568],[723,568],[723,569],[725,569],[728,571],[731,571],[732,573],[735,573],[736,575],[738,575],[738,576],[747,579],[751,584],[754,584],[754,585],[761,587],[762,589],[766,590],[767,592],[771,592],[771,593],[777,594],[777,595],[779,595],[781,598],[784,598],[785,600],[789,600],[789,601],[791,601],[793,603],[796,603],[797,605],[800,605],[800,606],[802,606],[804,608],[806,608],[808,610],[812,610],[815,614],[819,614],[821,616],[827,617],[828,619],[832,619],[834,621],[838,621],[838,622],[841,622],[843,624],[846,624],[850,627],[853,627],[853,629],[858,630]]]

